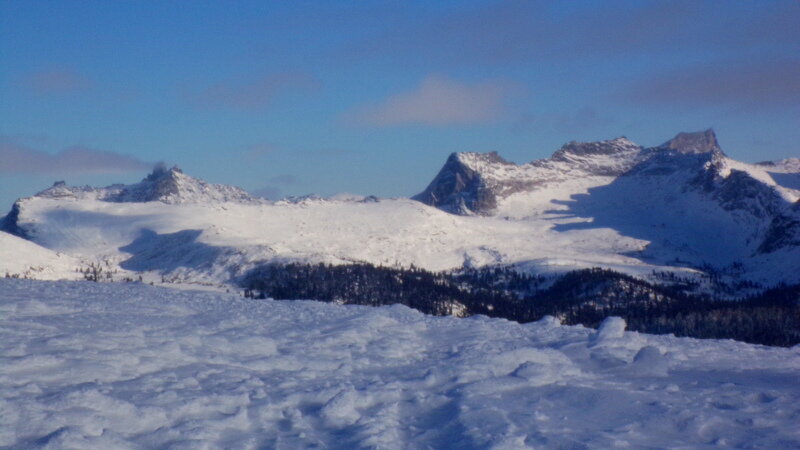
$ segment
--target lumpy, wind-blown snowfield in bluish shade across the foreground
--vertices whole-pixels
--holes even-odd
[[[0,446],[800,446],[800,348],[0,280]]]

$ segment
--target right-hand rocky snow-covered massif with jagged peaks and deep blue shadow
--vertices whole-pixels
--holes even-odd
[[[800,164],[735,161],[712,130],[652,148],[624,137],[570,142],[521,165],[455,153],[414,198],[459,215],[572,219],[554,223],[560,231],[613,229],[647,241],[639,255],[651,261],[800,270]]]

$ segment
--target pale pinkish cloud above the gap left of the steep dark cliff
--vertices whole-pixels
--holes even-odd
[[[513,90],[506,82],[462,83],[429,76],[414,90],[352,110],[345,119],[378,127],[486,123],[506,113],[506,100]]]

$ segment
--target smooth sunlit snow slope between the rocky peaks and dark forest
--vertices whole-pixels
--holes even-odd
[[[21,210],[20,226],[47,248],[209,282],[228,281],[263,261],[667,269],[630,256],[647,242],[612,229],[553,232],[548,219],[463,217],[408,199],[168,205],[32,197]]]

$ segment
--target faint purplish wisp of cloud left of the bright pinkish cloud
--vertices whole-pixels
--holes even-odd
[[[320,83],[304,72],[281,72],[247,81],[226,81],[191,92],[191,103],[205,108],[258,110],[287,92],[318,89]]]

